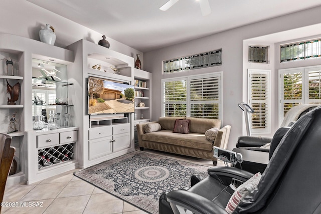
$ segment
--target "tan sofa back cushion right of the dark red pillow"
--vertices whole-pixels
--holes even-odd
[[[203,133],[210,128],[221,128],[221,120],[219,119],[204,119],[204,118],[195,118],[195,117],[186,117],[187,120],[190,120],[190,132],[194,133]]]

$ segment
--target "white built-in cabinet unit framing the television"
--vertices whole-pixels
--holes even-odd
[[[82,142],[78,154],[80,167],[134,151],[133,113],[88,114],[88,77],[134,85],[134,59],[86,40],[68,49],[75,53],[70,77],[77,97],[72,111],[79,124],[78,141]]]

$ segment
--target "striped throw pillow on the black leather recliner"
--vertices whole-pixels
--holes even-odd
[[[260,182],[261,179],[261,173],[258,172],[253,177],[248,179],[245,183],[241,184],[232,194],[229,202],[227,203],[225,207],[225,211],[228,213],[232,213],[234,209],[239,204],[240,200],[250,191],[254,190],[257,186],[257,184]]]

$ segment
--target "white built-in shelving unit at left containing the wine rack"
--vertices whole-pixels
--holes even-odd
[[[66,170],[74,169],[77,165],[77,155],[73,157],[71,161],[54,165],[49,168],[42,168],[40,170],[38,166],[38,153],[39,153],[39,139],[37,136],[51,134],[61,135],[61,133],[74,133],[77,132],[77,127],[60,128],[55,130],[33,130],[33,112],[34,108],[42,108],[44,106],[35,106],[32,104],[33,100],[33,75],[35,67],[33,65],[34,59],[39,60],[41,63],[56,63],[56,66],[64,65],[65,70],[61,70],[60,78],[62,81],[69,82],[67,78],[67,66],[73,63],[74,53],[70,50],[60,47],[48,45],[36,40],[23,38],[16,35],[0,34],[0,58],[11,58],[13,60],[13,74],[5,75],[7,72],[5,68],[5,60],[0,61],[3,66],[0,68],[0,117],[3,118],[3,123],[0,124],[0,132],[7,133],[8,125],[11,117],[16,113],[17,132],[12,132],[9,135],[13,137],[12,146],[16,147],[15,159],[18,160],[18,171],[16,174],[10,175],[8,178],[8,185],[13,185],[18,182],[33,183],[47,177],[65,172]],[[38,78],[38,75],[37,77]],[[41,78],[40,78],[41,79]],[[20,83],[19,99],[15,102],[16,105],[8,105],[6,94],[7,81],[13,86],[17,82]],[[52,81],[54,83],[54,81]],[[64,88],[64,87],[62,87]],[[65,90],[65,91],[64,91]],[[60,94],[65,92],[67,95],[67,89],[53,89],[53,94]],[[48,101],[47,101],[48,102]],[[57,109],[56,109],[57,110]],[[61,111],[63,109],[61,108]],[[74,123],[73,123],[74,124]],[[70,124],[70,125],[73,125]],[[73,138],[74,150],[77,150],[77,139]],[[62,142],[64,142],[62,140]],[[68,143],[70,143],[68,141]],[[60,142],[57,142],[57,146]],[[48,150],[46,144],[41,148]],[[50,157],[48,157],[50,158]]]

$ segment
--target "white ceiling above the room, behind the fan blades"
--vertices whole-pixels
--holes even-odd
[[[142,52],[320,6],[320,0],[209,0],[203,17],[196,0],[27,0]]]

